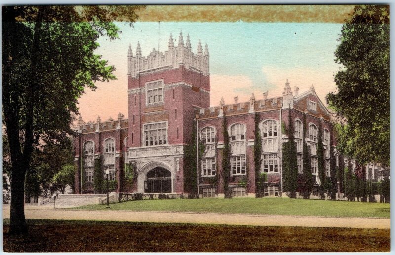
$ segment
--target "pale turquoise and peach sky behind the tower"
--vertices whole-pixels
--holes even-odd
[[[286,79],[290,86],[299,87],[299,93],[313,84],[325,103],[327,93],[335,91],[334,74],[341,68],[334,56],[340,23],[286,23],[286,22],[136,22],[133,27],[116,23],[121,28],[120,39],[98,40],[96,54],[114,65],[117,80],[98,82],[96,91],[86,91],[79,99],[79,112],[84,121],[116,119],[121,112],[127,117],[127,50],[136,52],[140,42],[142,55],[153,48],[168,49],[172,33],[175,45],[180,31],[190,36],[192,51],[197,53],[201,40],[210,53],[210,105],[248,101],[251,93],[257,100],[269,91],[268,98],[281,96]]]

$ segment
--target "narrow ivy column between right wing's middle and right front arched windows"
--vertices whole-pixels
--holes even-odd
[[[261,130],[259,128],[259,114],[255,112],[254,115],[254,126],[255,126],[255,144],[254,144],[254,169],[255,169],[255,196],[263,196],[263,181],[260,179],[261,167],[262,167],[262,138]]]

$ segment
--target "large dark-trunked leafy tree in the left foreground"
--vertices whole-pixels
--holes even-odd
[[[71,113],[95,81],[115,79],[93,52],[99,36],[118,38],[113,21],[133,22],[139,6],[3,6],[3,113],[11,162],[9,233],[27,231],[24,181],[32,152],[75,135]]]

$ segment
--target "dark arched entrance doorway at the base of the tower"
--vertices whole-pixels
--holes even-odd
[[[156,167],[147,173],[144,182],[145,193],[171,193],[171,173],[163,167]]]

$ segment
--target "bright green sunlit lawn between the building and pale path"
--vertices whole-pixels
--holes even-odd
[[[110,210],[303,215],[339,217],[390,217],[390,204],[286,198],[169,199],[111,204]],[[109,210],[105,205],[73,209]]]

